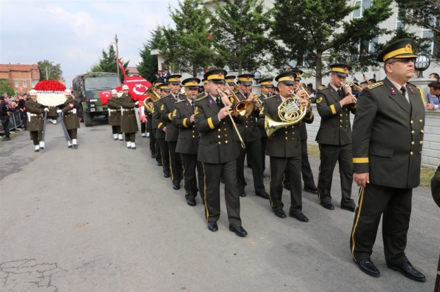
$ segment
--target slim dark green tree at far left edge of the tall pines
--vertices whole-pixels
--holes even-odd
[[[157,48],[162,38],[164,38],[164,34],[161,28],[156,27],[156,29],[151,32],[151,37],[144,43],[144,48],[140,51],[142,61],[137,65],[137,71],[140,76],[151,82],[157,79],[155,74],[157,74],[157,70],[159,69],[157,66],[157,56],[152,56],[151,50]]]

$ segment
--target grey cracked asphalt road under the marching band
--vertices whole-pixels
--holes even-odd
[[[212,233],[200,198],[186,205],[183,188],[173,190],[151,159],[148,139],[138,133],[129,150],[105,122],[81,124],[78,149],[67,148],[60,124],[47,125],[40,153],[27,132],[0,142],[0,291],[433,291],[440,220],[428,189],[414,191],[406,249],[427,282],[386,267],[381,232],[372,260],[382,276],[372,278],[351,260],[353,213],[340,209],[338,170],[336,210],[303,192],[310,222],[301,223],[274,216],[246,168],[248,237],[228,230],[224,202]],[[318,157],[310,160],[316,177]],[[288,211],[287,190],[283,200]]]

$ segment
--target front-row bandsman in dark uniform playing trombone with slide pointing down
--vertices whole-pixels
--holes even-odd
[[[240,197],[236,184],[236,159],[239,146],[236,143],[234,122],[243,120],[229,115],[232,106],[227,96],[220,96],[227,71],[212,69],[203,76],[208,80],[208,96],[195,102],[195,126],[200,133],[197,159],[203,163],[205,190],[205,215],[208,229],[217,232],[220,217],[220,176],[225,177],[225,203],[229,229],[238,236],[247,236],[241,227]],[[222,100],[221,100],[222,99]]]

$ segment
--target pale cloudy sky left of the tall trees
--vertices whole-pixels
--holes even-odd
[[[60,64],[66,86],[102,56],[118,35],[119,56],[129,66],[157,25],[172,23],[177,0],[0,0],[0,64]]]

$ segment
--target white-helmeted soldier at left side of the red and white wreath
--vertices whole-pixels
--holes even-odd
[[[26,109],[28,109],[28,131],[34,141],[35,152],[39,152],[40,149],[44,149],[44,142],[39,141],[41,131],[43,131],[43,113],[49,109],[36,101],[35,89],[32,89],[29,95],[30,100],[25,103]]]

